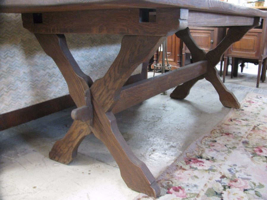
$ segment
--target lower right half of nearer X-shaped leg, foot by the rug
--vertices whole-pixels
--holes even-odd
[[[126,185],[138,192],[157,197],[160,187],[144,164],[129,148],[121,135],[116,118],[112,112],[104,113],[93,99],[94,119],[90,129],[108,148],[120,168],[120,174]]]

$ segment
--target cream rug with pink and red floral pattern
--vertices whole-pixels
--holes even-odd
[[[267,199],[267,96],[249,93],[240,109],[232,108],[191,144],[157,182],[160,200]]]

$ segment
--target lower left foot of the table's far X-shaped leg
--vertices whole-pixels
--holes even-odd
[[[187,81],[181,85],[178,85],[174,91],[172,91],[170,97],[174,99],[185,99],[187,95],[189,95],[190,89],[193,87],[193,85],[200,79],[204,79],[204,77],[199,76],[195,79],[192,79],[190,81]]]

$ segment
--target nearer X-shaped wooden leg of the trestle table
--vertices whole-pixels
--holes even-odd
[[[142,62],[152,57],[160,44],[166,39],[162,36],[124,36],[120,52],[111,65],[107,73],[93,84],[90,77],[82,73],[76,61],[72,57],[66,44],[64,35],[56,34],[35,34],[42,48],[47,55],[53,58],[65,78],[71,97],[77,107],[86,105],[85,91],[91,92],[93,104],[93,123],[88,125],[88,129],[96,135],[109,149],[117,162],[121,176],[127,186],[136,191],[146,193],[150,196],[158,196],[160,187],[155,178],[147,168],[131,151],[123,136],[121,135],[112,108],[120,98],[120,90],[124,83],[131,76],[135,68]],[[92,85],[89,89],[89,86]],[[74,122],[72,129],[78,123]],[[83,126],[83,125],[82,125]],[[72,152],[83,139],[85,132],[69,131],[63,141],[74,138],[76,145],[72,145]],[[80,136],[79,136],[80,134]],[[77,136],[78,135],[78,136]],[[68,148],[70,142],[58,142],[57,148],[62,145]],[[73,148],[75,146],[75,148]],[[52,152],[57,152],[52,149]],[[51,154],[51,153],[50,153]],[[56,157],[54,155],[54,157]]]

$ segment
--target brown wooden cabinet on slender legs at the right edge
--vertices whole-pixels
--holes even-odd
[[[267,9],[265,9],[267,10]],[[265,80],[266,75],[266,64],[267,64],[267,18],[261,19],[261,25],[248,31],[244,37],[235,42],[226,51],[224,60],[228,57],[232,57],[232,71],[231,78],[237,76],[238,63],[242,62],[241,72],[243,71],[244,63],[258,64],[258,77],[256,87],[259,87],[260,73],[262,72],[262,81]],[[225,81],[225,73],[228,68],[227,62],[224,64],[223,82]],[[263,68],[262,68],[263,66]]]

